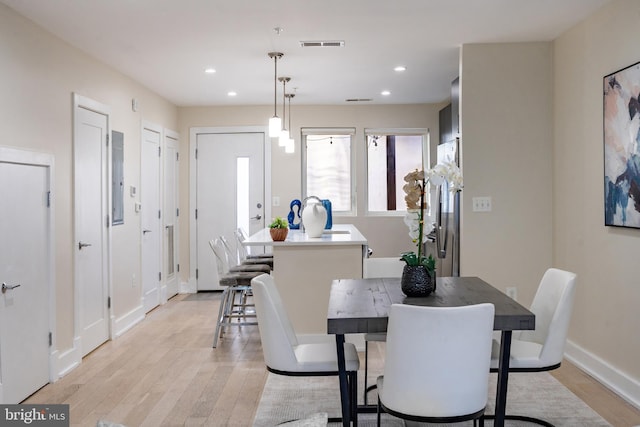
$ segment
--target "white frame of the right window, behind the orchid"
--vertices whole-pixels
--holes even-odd
[[[364,129],[364,211],[369,217],[398,217],[404,216],[404,211],[371,211],[369,210],[369,147],[368,139],[372,135],[384,136],[421,136],[422,137],[422,168],[431,167],[431,132],[429,128],[365,128]]]

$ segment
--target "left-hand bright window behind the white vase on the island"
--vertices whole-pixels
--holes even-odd
[[[302,129],[304,197],[331,201],[332,212],[353,213],[353,128]]]

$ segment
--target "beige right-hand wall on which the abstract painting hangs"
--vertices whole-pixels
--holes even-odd
[[[640,61],[640,2],[554,43],[554,263],[578,274],[570,354],[640,406],[640,230],[604,226],[603,77]],[[640,82],[639,82],[640,84]]]

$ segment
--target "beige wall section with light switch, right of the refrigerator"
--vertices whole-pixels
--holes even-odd
[[[464,45],[461,275],[529,305],[552,266],[551,43]],[[473,212],[472,198],[492,198]]]

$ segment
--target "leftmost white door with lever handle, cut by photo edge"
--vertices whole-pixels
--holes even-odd
[[[49,167],[0,152],[0,403],[49,382]],[[13,289],[11,289],[13,288]]]

